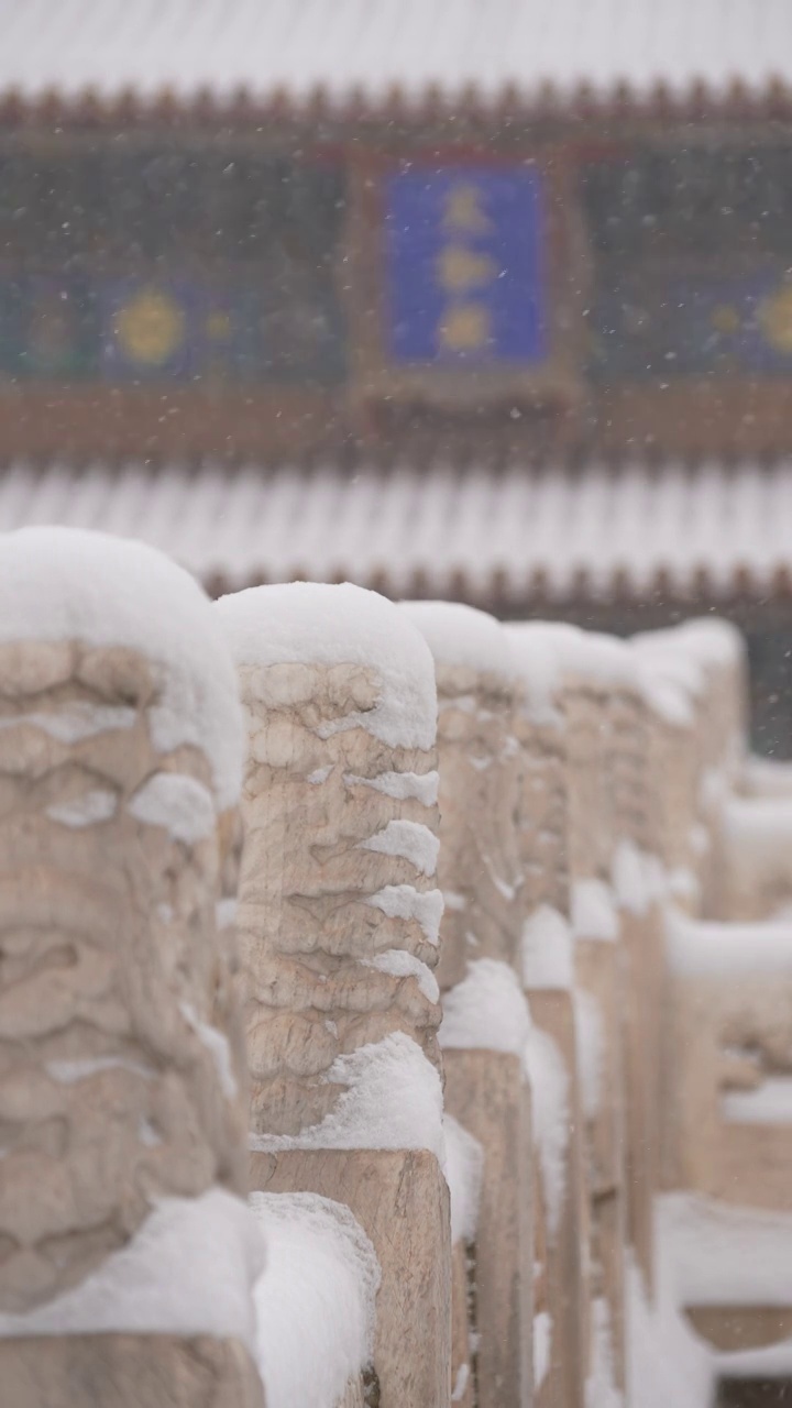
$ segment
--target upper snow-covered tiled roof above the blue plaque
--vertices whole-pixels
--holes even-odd
[[[792,80],[788,0],[0,0],[0,93],[485,101]]]

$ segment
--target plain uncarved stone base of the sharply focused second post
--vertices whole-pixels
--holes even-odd
[[[448,1408],[451,1221],[448,1186],[424,1149],[289,1149],[251,1155],[251,1187],[345,1202],[371,1239],[382,1281],[373,1369],[382,1408]]]

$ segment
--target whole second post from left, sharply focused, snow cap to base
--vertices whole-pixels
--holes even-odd
[[[450,1400],[437,1028],[437,697],[383,597],[297,583],[216,612],[248,719],[238,934],[252,1187],[345,1202],[380,1262],[382,1402]]]

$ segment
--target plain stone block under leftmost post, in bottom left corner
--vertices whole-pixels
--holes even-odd
[[[0,1400],[7,1408],[264,1408],[247,1349],[207,1335],[0,1339]]]

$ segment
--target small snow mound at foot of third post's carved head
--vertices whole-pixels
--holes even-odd
[[[521,1056],[531,1018],[520,980],[507,963],[476,959],[443,998],[438,1041],[444,1049],[469,1048]]]

